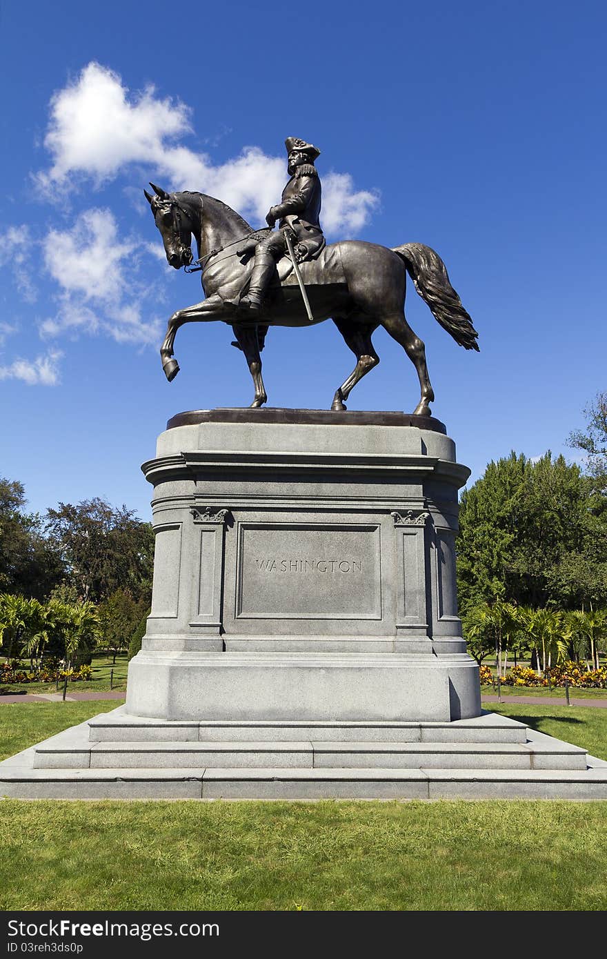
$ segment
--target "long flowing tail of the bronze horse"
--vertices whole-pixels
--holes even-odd
[[[438,253],[421,243],[393,246],[392,250],[405,261],[416,291],[428,303],[442,328],[447,330],[460,346],[479,352],[479,334],[470,315],[461,305],[461,300],[449,281],[447,268]]]

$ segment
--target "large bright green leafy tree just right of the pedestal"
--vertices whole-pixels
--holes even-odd
[[[607,601],[607,522],[588,479],[563,456],[489,463],[462,493],[459,524],[462,611],[495,596],[532,608]]]

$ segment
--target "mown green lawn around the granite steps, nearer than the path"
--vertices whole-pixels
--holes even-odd
[[[3,753],[114,706],[0,706]],[[498,711],[607,758],[607,712]],[[607,908],[607,802],[5,800],[0,836],[3,910]]]

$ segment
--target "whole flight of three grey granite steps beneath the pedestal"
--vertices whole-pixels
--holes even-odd
[[[607,799],[607,762],[524,723],[166,721],[125,707],[0,762],[22,799]]]

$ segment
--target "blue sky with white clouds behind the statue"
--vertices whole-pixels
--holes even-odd
[[[472,479],[511,449],[574,457],[606,387],[605,5],[412,7],[2,5],[0,476],[30,508],[104,496],[149,518],[139,466],[167,419],[250,403],[223,324],[177,334],[166,382],[166,321],[200,286],[166,266],[142,189],[210,193],[259,225],[289,135],[322,151],[329,241],[417,241],[447,265],[481,352],[411,284],[407,315]],[[374,343],[349,409],[410,411],[412,364]],[[330,321],[273,329],[268,405],[326,409],[352,365]]]

